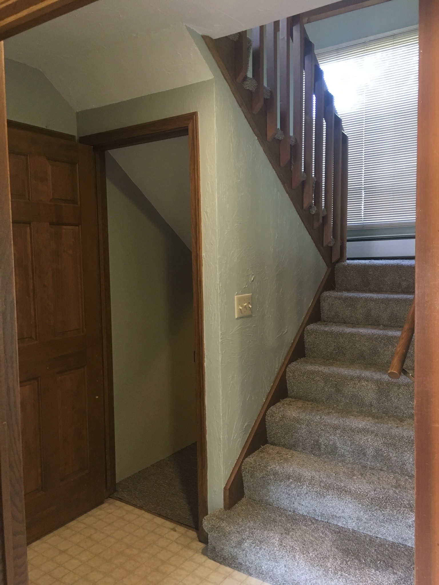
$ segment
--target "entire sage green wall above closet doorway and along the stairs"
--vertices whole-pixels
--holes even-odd
[[[190,31],[191,32],[191,31]],[[325,273],[325,264],[200,36],[214,78],[78,112],[78,134],[197,111],[210,510]],[[168,164],[172,164],[169,161]],[[253,317],[235,320],[235,294]]]

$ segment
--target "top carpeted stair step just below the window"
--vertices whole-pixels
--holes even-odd
[[[335,264],[337,290],[414,294],[414,260],[348,260]]]

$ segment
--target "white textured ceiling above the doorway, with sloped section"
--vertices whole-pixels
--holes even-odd
[[[186,30],[220,37],[328,0],[98,0],[5,41],[5,56],[41,70],[75,109],[212,77]]]

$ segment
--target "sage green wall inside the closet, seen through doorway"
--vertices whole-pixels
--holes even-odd
[[[109,154],[107,197],[120,481],[196,441],[192,259]]]

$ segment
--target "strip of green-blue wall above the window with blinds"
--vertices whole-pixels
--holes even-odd
[[[306,25],[315,49],[325,49],[369,36],[415,26],[418,0],[390,0],[376,6],[317,20]]]

